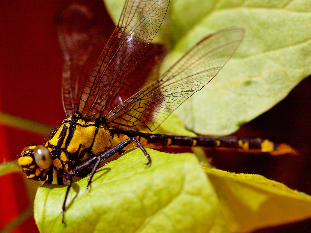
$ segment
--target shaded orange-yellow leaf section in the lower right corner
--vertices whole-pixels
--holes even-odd
[[[205,168],[230,232],[249,232],[311,217],[311,196],[259,175]]]

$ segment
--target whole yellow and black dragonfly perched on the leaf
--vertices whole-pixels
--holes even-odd
[[[100,165],[128,148],[139,147],[148,166],[151,157],[145,148],[178,145],[263,152],[277,148],[277,144],[267,139],[151,133],[217,75],[244,38],[244,30],[239,28],[211,34],[155,81],[143,86],[159,57],[152,54],[155,47],[151,41],[168,6],[169,0],[126,0],[105,46],[99,37],[88,35],[93,29],[77,36],[62,17],[57,19],[64,54],[62,99],[67,118],[53,130],[45,145],[30,144],[24,148],[18,163],[30,180],[50,184],[54,172],[58,184],[67,183],[63,223],[73,178],[89,175],[88,188]],[[71,10],[77,11],[75,7]],[[88,16],[85,11],[80,9],[80,13]],[[100,51],[95,50],[100,48],[102,52],[96,61],[94,54]],[[144,64],[145,69],[137,64]]]

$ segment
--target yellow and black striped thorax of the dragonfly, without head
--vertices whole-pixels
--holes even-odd
[[[45,144],[52,153],[55,170],[70,170],[88,158],[110,149],[109,129],[95,121],[84,121],[77,115],[65,119]]]

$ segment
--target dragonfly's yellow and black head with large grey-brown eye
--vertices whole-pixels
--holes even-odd
[[[41,181],[46,180],[46,175],[53,165],[52,154],[43,145],[27,146],[17,162],[28,179]]]

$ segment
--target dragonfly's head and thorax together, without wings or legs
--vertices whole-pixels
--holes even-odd
[[[45,146],[26,147],[18,163],[28,179],[45,181],[54,169],[57,174],[70,171],[111,146],[105,125],[73,115],[53,130]]]

